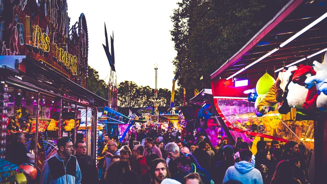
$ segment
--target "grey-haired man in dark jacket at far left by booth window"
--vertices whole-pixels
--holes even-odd
[[[27,149],[25,147],[25,135],[21,132],[14,133],[12,143],[7,146],[6,160],[9,162],[22,165],[28,162]]]

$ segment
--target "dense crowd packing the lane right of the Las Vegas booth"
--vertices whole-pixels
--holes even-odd
[[[212,148],[208,138],[193,131],[181,137],[178,131],[149,127],[123,143],[107,135],[105,140],[99,150],[101,184],[308,183],[305,158],[294,141],[285,144],[284,152],[276,140],[258,141],[253,155],[242,138]]]

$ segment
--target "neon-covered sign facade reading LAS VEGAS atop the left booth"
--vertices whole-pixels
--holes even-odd
[[[19,62],[22,72],[31,60],[39,61],[87,88],[88,31],[83,13],[71,25],[67,0],[12,0],[2,8],[6,11],[1,17],[8,19],[0,21],[0,56],[28,56]]]

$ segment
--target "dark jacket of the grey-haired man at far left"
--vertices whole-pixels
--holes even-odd
[[[28,163],[29,158],[27,153],[29,152],[23,143],[14,141],[7,146],[5,158],[9,162],[20,166],[23,163]]]

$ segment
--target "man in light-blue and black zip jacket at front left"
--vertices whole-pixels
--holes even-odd
[[[43,162],[40,184],[80,184],[81,171],[76,157],[72,155],[72,139],[62,137],[58,139],[57,146],[57,154]]]

